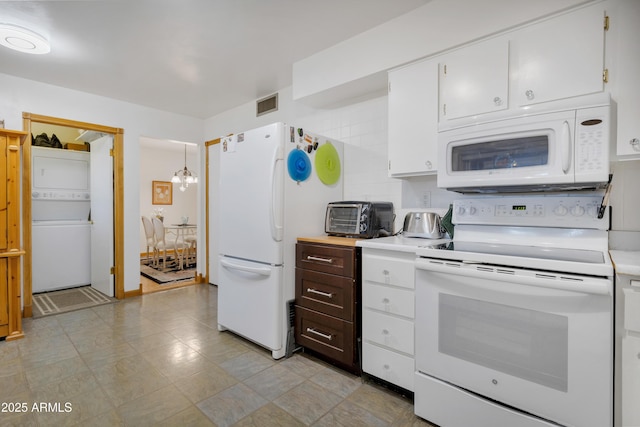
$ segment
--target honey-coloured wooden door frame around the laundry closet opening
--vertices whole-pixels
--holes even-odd
[[[113,136],[113,232],[114,232],[114,291],[117,299],[125,297],[124,292],[124,130],[110,126],[79,122],[58,117],[43,116],[33,113],[22,113],[22,126],[27,135],[31,134],[31,123],[66,126],[83,130],[102,132]],[[25,249],[23,263],[23,316],[32,317],[32,236],[31,236],[31,144],[25,143],[22,149],[22,218],[23,246]]]

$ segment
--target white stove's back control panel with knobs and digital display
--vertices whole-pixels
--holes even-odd
[[[609,229],[600,195],[487,196],[453,202],[454,224]]]

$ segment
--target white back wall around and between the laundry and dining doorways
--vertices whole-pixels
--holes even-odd
[[[124,288],[140,286],[139,138],[202,142],[202,120],[0,74],[0,118],[22,129],[22,113],[124,129]]]

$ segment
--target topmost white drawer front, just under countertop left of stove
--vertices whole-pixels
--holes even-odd
[[[414,275],[413,259],[393,259],[372,254],[362,256],[363,281],[414,289]]]

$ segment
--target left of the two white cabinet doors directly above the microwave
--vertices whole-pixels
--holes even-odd
[[[509,41],[490,39],[440,58],[440,121],[509,107]]]

